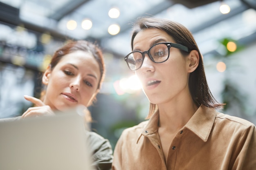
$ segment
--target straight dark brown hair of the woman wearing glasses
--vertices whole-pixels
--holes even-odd
[[[196,50],[199,53],[199,65],[189,75],[189,91],[193,98],[195,104],[199,107],[201,104],[210,108],[220,108],[225,104],[221,104],[216,101],[216,99],[211,94],[209,86],[206,81],[205,73],[204,73],[204,65],[202,61],[202,55],[198,49],[198,45],[196,44],[192,33],[186,29],[185,26],[179,24],[177,22],[173,22],[166,19],[153,18],[153,17],[142,17],[135,22],[133,25],[132,32],[132,40],[131,46],[133,50],[133,40],[139,31],[144,29],[160,29],[168,35],[170,35],[178,44],[182,44],[187,46],[189,50]],[[180,50],[180,52],[185,56],[188,53]],[[155,111],[158,110],[156,104],[150,103],[150,110],[146,119],[149,119]]]

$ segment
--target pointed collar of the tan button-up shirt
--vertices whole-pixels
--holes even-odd
[[[207,106],[201,105],[194,115],[189,119],[184,128],[191,130],[203,141],[207,141],[211,128],[216,117],[216,110]],[[157,110],[149,119],[148,124],[142,130],[141,135],[150,135],[158,130],[159,111]],[[137,143],[141,137],[139,135]]]

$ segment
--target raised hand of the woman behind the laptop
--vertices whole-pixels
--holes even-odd
[[[24,98],[32,102],[36,105],[36,107],[28,108],[27,111],[25,111],[22,114],[22,118],[25,117],[36,117],[36,116],[43,116],[43,115],[54,115],[54,112],[52,111],[51,107],[48,105],[45,105],[40,99],[37,99],[36,97],[31,97],[24,95]]]

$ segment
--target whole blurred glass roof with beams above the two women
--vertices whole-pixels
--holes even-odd
[[[171,0],[88,0],[59,21],[49,17],[56,14],[62,15],[60,11],[65,13],[72,9],[67,5],[71,2],[77,4],[83,1],[0,0],[0,2],[20,8],[20,18],[25,22],[74,39],[99,40],[104,49],[121,56],[130,52],[131,24],[139,16],[153,15],[157,18],[180,22],[192,31],[198,45],[205,53],[216,49],[216,42],[224,36],[239,39],[256,32],[256,12],[253,9],[245,11],[246,9],[243,8],[245,5],[241,0],[223,1],[230,6],[232,15],[220,13],[220,1],[189,9],[182,4],[173,4]],[[108,16],[108,11],[112,7],[120,10],[119,18]],[[84,19],[92,21],[92,29],[81,28],[81,22]],[[67,29],[69,20],[77,22],[75,30]],[[120,25],[121,32],[110,35],[108,26],[111,24]]]

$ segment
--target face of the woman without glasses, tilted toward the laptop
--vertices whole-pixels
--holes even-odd
[[[88,106],[97,95],[100,76],[92,54],[75,51],[64,55],[53,70],[47,68],[43,75],[43,84],[47,85],[44,103],[53,110]]]

